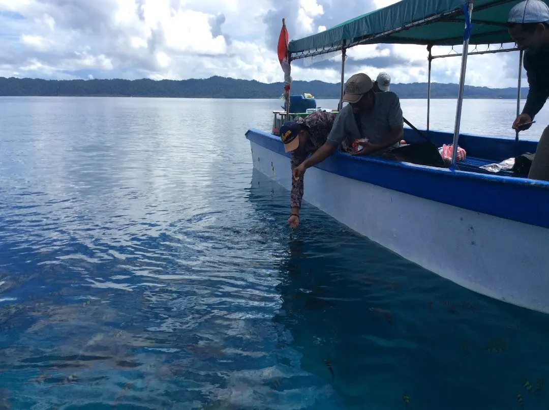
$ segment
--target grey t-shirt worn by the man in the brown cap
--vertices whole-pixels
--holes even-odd
[[[351,104],[347,104],[335,118],[327,141],[339,145],[346,137],[351,137],[352,141],[368,138],[373,144],[383,143],[391,132],[391,127],[404,125],[399,97],[391,91],[375,93],[374,106],[362,112],[360,120],[364,135],[358,132]]]

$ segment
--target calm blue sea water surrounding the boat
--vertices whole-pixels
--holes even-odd
[[[286,226],[277,104],[0,99],[0,409],[549,407],[547,315]]]

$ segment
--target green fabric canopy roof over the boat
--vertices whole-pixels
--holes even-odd
[[[512,42],[506,28],[507,16],[519,2],[474,1],[470,44]],[[460,45],[465,27],[464,4],[465,0],[401,0],[318,34],[290,41],[288,50],[295,60],[358,44]]]

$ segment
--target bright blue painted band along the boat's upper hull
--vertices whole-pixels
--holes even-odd
[[[250,129],[246,137],[289,157],[276,136]],[[342,152],[316,167],[420,198],[549,228],[549,182],[424,167]]]

